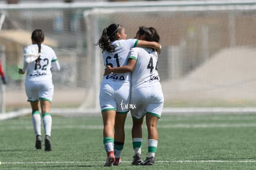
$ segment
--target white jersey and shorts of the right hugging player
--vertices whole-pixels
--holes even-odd
[[[145,113],[161,117],[164,96],[158,75],[158,54],[150,48],[132,48],[129,58],[135,59],[130,92],[130,113],[142,118]]]

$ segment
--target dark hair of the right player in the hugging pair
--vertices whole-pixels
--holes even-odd
[[[159,43],[159,41],[160,41],[160,36],[158,35],[158,33],[154,27],[141,26],[141,27],[139,27],[139,30],[137,33],[140,36],[144,35],[145,41],[156,41],[157,43]]]

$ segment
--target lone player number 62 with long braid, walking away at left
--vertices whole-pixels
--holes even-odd
[[[53,100],[54,86],[51,70],[60,70],[59,62],[53,49],[43,45],[45,35],[42,30],[32,32],[32,45],[24,48],[23,69],[19,74],[25,74],[25,91],[32,108],[33,129],[36,134],[35,148],[41,149],[41,114],[45,129],[45,151],[51,151],[51,125],[50,113],[51,101]],[[28,59],[30,54],[35,54],[36,59]]]

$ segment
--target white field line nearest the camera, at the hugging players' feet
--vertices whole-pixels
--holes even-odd
[[[176,161],[155,161],[156,163],[256,163],[256,160],[176,160]],[[105,163],[105,161],[46,161],[46,162],[2,162],[2,164],[88,164]],[[130,163],[130,161],[122,161]]]

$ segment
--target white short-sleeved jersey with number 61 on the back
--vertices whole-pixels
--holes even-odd
[[[128,54],[130,48],[133,48],[137,45],[137,39],[128,39],[128,40],[116,40],[113,41],[115,50],[114,53],[109,53],[108,51],[103,52],[103,62],[104,66],[111,67],[121,67],[125,66],[128,61]],[[122,74],[109,74],[103,77],[103,82],[107,83],[129,83],[130,82],[130,73]]]

